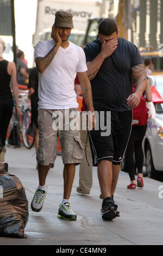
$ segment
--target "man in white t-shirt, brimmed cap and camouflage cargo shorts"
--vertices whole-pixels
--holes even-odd
[[[39,212],[47,194],[46,176],[51,163],[57,157],[57,139],[59,137],[64,163],[64,198],[59,206],[58,217],[64,220],[76,220],[71,209],[70,194],[74,179],[75,166],[83,158],[83,147],[78,129],[71,129],[73,115],[78,103],[74,92],[76,72],[82,87],[86,105],[94,112],[90,82],[87,78],[85,54],[81,47],[68,41],[73,28],[72,14],[58,11],[52,27],[52,40],[39,41],[35,48],[35,63],[39,71],[39,149],[37,162],[39,187],[32,200],[32,210]],[[67,115],[68,113],[68,115]],[[69,118],[70,114],[70,118]],[[62,116],[61,119],[58,117]],[[67,127],[67,117],[68,121]],[[56,120],[63,125],[56,127]],[[95,127],[95,116],[92,119]],[[61,129],[62,127],[62,129]]]

